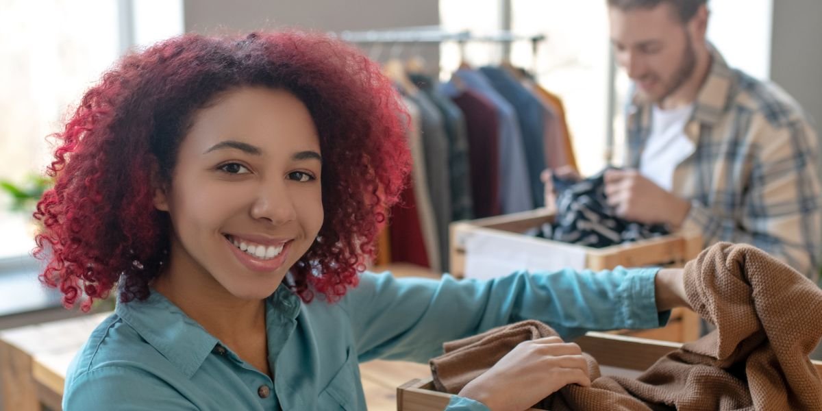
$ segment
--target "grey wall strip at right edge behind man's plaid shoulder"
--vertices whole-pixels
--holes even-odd
[[[770,77],[797,99],[822,138],[820,20],[820,0],[774,0]]]

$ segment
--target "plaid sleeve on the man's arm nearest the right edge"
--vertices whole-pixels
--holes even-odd
[[[822,210],[815,133],[801,121],[760,128],[756,140],[762,145],[753,155],[746,192],[740,194],[739,215],[718,215],[693,200],[682,229],[700,233],[705,244],[751,244],[817,279]]]

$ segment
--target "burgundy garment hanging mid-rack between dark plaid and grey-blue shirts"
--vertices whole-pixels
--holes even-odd
[[[463,90],[454,98],[468,128],[471,194],[476,217],[502,214],[500,201],[499,120],[496,109],[482,95]]]

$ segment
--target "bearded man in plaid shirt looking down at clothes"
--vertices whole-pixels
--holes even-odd
[[[635,84],[626,169],[605,176],[625,219],[747,242],[817,279],[817,136],[773,83],[728,67],[707,0],[607,0],[617,63]],[[764,46],[764,45],[763,45]]]

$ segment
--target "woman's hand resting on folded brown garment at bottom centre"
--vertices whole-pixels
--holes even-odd
[[[568,384],[591,385],[588,363],[579,345],[547,337],[517,345],[459,396],[492,411],[522,411]]]

